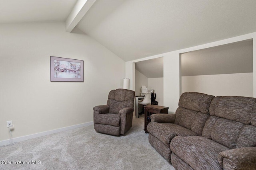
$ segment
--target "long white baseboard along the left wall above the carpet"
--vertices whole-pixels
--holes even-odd
[[[50,134],[53,134],[53,133],[58,133],[58,132],[62,132],[62,131],[76,129],[78,127],[89,126],[89,125],[92,125],[92,124],[93,124],[93,121],[90,121],[90,122],[82,123],[82,124],[79,124],[79,125],[63,127],[63,128],[60,128],[60,129],[54,129],[54,130],[51,130],[51,131],[35,133],[35,134],[32,134],[32,135],[26,135],[26,136],[22,136],[22,137],[16,137],[16,138],[12,138],[11,141],[10,141],[10,139],[0,141],[0,146],[2,147],[2,146],[5,146],[5,145],[8,145],[9,141],[10,141],[10,144],[12,144],[14,142],[26,141],[28,139],[33,139],[33,138],[36,138],[36,137],[42,137],[42,136],[50,135]]]

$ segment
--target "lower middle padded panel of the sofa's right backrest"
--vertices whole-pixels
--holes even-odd
[[[212,127],[212,140],[230,149],[235,149],[239,132],[243,126],[244,123],[220,118]]]

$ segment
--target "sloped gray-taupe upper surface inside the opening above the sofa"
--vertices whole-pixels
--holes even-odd
[[[182,76],[253,72],[252,39],[181,55]]]

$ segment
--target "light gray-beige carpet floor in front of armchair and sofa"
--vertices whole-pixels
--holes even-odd
[[[29,139],[0,148],[0,169],[174,170],[150,145],[143,129],[141,116],[133,117],[131,129],[119,137],[98,133],[90,125]]]

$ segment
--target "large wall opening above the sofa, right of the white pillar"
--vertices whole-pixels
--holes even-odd
[[[180,54],[181,93],[253,97],[253,41]]]

